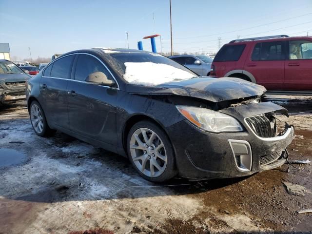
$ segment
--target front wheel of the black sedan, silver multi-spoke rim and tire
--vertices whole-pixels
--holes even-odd
[[[137,122],[128,134],[127,151],[132,165],[143,178],[163,182],[176,176],[172,144],[156,124]]]

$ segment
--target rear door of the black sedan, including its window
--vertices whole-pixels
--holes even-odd
[[[75,55],[68,55],[49,64],[40,79],[40,104],[48,123],[56,128],[69,129],[67,114],[67,84]],[[52,126],[50,126],[52,127]]]

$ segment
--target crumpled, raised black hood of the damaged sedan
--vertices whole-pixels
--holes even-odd
[[[131,92],[131,90],[128,91]],[[163,83],[154,87],[138,88],[137,86],[136,91],[132,93],[179,95],[219,102],[238,98],[259,97],[264,92],[266,92],[266,89],[263,86],[240,78],[198,77]]]

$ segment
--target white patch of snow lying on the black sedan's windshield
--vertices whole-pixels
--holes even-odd
[[[125,62],[123,78],[131,84],[154,86],[166,82],[185,80],[195,76],[176,67],[154,62]]]

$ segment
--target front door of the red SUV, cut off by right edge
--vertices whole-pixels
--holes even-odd
[[[312,90],[312,40],[287,41],[285,90]]]

